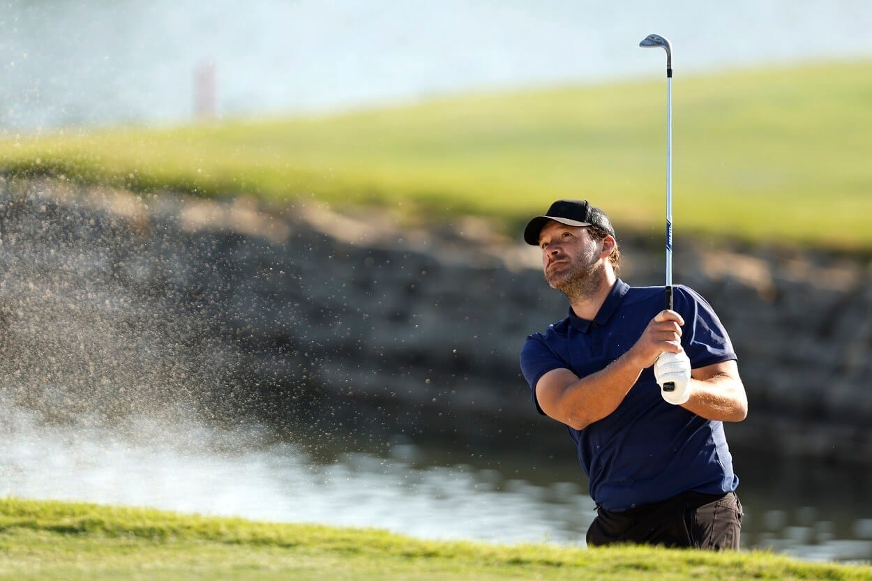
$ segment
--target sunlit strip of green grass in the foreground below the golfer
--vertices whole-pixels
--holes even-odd
[[[416,540],[92,504],[0,501],[0,579],[872,579],[766,552]]]

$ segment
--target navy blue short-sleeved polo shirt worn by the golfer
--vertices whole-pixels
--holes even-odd
[[[673,286],[674,310],[685,319],[681,344],[693,368],[736,359],[712,306],[696,291]],[[521,371],[535,386],[542,375],[566,368],[583,378],[610,364],[642,335],[664,309],[664,287],[630,287],[620,279],[589,321],[569,317],[534,333],[521,349]],[[610,415],[582,430],[569,428],[589,493],[608,510],[625,510],[694,490],[722,494],[736,489],[724,426],[705,420],[660,395],[651,367]]]

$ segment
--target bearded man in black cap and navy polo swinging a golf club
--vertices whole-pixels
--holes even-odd
[[[521,370],[540,414],[566,424],[597,515],[589,545],[738,549],[739,479],[723,421],[747,414],[730,338],[685,286],[617,277],[615,230],[583,200],[554,202],[524,230],[569,316],[527,338]],[[672,382],[674,391],[664,392]]]

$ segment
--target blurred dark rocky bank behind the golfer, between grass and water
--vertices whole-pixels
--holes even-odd
[[[488,222],[2,186],[0,373],[16,405],[106,419],[181,402],[313,439],[565,446],[517,364],[564,299],[537,251]],[[658,234],[617,228],[624,280],[660,284]],[[675,279],[739,352],[750,414],[727,427],[734,448],[872,462],[870,278],[866,256],[678,239]]]

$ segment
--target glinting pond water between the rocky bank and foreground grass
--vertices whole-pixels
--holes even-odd
[[[469,455],[398,439],[382,454],[178,418],[44,425],[6,407],[7,496],[148,506],[255,520],[377,527],[413,537],[583,545],[594,516],[566,458]],[[872,479],[860,469],[737,462],[744,549],[872,560]]]

